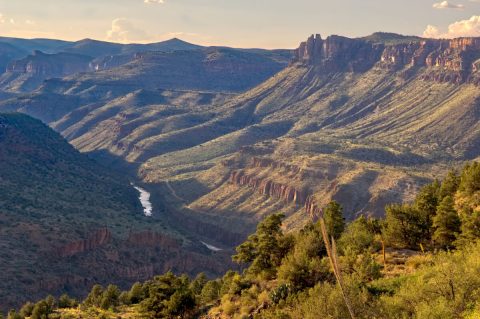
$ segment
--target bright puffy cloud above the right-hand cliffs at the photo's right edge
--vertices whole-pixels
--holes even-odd
[[[480,16],[472,16],[470,19],[454,22],[448,26],[446,32],[440,28],[429,25],[423,32],[426,38],[459,38],[480,36]]]

